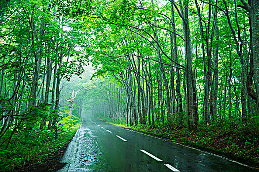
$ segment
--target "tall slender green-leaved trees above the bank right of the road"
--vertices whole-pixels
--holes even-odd
[[[248,38],[253,39],[245,29],[249,18],[241,13],[257,4],[249,3],[118,0],[108,7],[100,1],[91,13],[95,21],[88,21],[96,30],[95,51],[89,52],[95,76],[114,77],[127,92],[126,122],[178,121],[181,127],[187,121],[191,129],[225,119],[230,125],[242,116],[246,125],[253,118],[247,109],[257,106],[249,97],[256,88],[250,74],[255,55],[249,54],[254,50]]]

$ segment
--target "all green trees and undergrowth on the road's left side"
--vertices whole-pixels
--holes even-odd
[[[84,72],[88,59],[78,49],[86,34],[62,2],[0,1],[0,171],[42,163],[80,123],[73,112],[77,90],[65,102],[73,90],[62,90]]]

